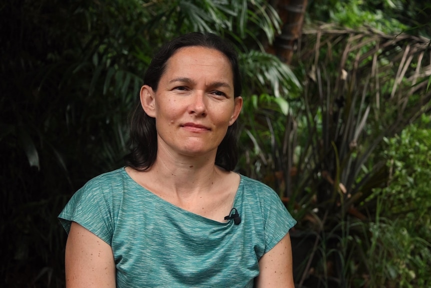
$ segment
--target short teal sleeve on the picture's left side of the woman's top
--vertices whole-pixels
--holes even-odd
[[[114,215],[109,190],[94,178],[76,191],[58,215],[66,232],[73,221],[111,245]]]

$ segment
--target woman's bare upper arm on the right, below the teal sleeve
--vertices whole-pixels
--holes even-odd
[[[287,233],[259,260],[260,273],[255,279],[257,288],[294,288],[292,272],[292,249]]]

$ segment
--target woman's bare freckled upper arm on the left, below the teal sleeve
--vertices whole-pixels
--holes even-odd
[[[72,222],[65,252],[66,287],[115,287],[115,263],[111,247]]]

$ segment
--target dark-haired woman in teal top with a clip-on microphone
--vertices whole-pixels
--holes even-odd
[[[234,50],[213,34],[155,55],[127,166],[59,215],[67,287],[293,287],[295,220],[273,190],[232,172],[240,95]]]

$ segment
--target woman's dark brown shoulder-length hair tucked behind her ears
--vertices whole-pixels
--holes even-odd
[[[161,76],[166,70],[166,63],[176,51],[184,47],[200,46],[215,49],[230,62],[233,74],[233,95],[239,97],[242,92],[238,60],[232,46],[211,33],[189,33],[166,43],[152,58],[143,78],[143,84],[155,92]],[[233,170],[238,161],[237,154],[238,124],[235,121],[227,128],[226,135],[217,148],[215,164]],[[157,155],[157,131],[155,119],[149,117],[142,109],[140,102],[130,117],[130,153],[124,157],[125,164],[136,170],[147,170],[154,163]]]

